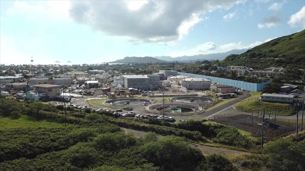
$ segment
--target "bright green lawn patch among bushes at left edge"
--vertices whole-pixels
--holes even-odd
[[[71,125],[71,124],[67,124]],[[8,128],[20,128],[20,127],[64,127],[65,124],[59,124],[56,122],[48,122],[45,120],[34,121],[27,115],[21,115],[19,119],[11,119],[9,117],[0,117],[0,130]]]

